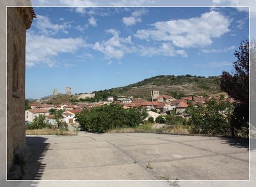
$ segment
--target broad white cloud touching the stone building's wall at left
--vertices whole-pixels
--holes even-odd
[[[61,53],[75,53],[85,46],[82,38],[52,38],[44,35],[27,33],[26,66],[45,64],[54,67],[56,57]]]

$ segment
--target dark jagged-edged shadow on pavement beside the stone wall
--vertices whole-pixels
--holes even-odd
[[[42,160],[50,146],[50,143],[45,143],[46,140],[47,138],[43,137],[26,137],[27,151],[23,180],[41,180],[46,166]]]

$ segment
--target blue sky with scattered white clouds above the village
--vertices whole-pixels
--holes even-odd
[[[220,75],[249,34],[237,8],[38,7],[27,31],[26,98],[119,87],[155,75]]]

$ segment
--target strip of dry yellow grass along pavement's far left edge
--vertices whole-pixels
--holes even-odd
[[[32,129],[26,130],[26,135],[67,135],[75,136],[77,132],[72,132],[69,130],[59,130],[59,129]]]

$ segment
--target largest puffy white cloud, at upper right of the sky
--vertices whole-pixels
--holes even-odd
[[[176,47],[204,47],[229,32],[230,20],[219,12],[211,11],[200,17],[174,19],[151,24],[151,29],[138,30],[134,36],[140,39],[171,42]]]

